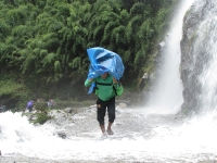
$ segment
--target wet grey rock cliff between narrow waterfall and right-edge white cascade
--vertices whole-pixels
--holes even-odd
[[[181,40],[182,110],[199,112],[203,108],[203,73],[212,61],[212,16],[217,15],[216,0],[195,0],[183,20]],[[215,18],[215,17],[214,17]],[[215,24],[215,23],[213,23]],[[216,24],[217,25],[217,24]],[[215,33],[214,33],[215,34]]]

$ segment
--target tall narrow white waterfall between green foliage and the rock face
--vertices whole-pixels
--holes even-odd
[[[182,38],[183,16],[194,0],[184,0],[179,4],[170,30],[166,36],[165,47],[162,51],[163,64],[156,83],[151,90],[146,106],[156,113],[177,113],[183,102],[182,83],[180,79],[180,40]]]

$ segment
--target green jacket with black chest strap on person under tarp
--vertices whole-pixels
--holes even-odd
[[[101,76],[94,78],[91,83],[89,79],[85,82],[85,86],[89,87],[92,83],[97,84],[95,95],[102,100],[107,101],[115,96],[120,96],[124,88],[120,84],[113,84],[113,77],[107,75],[105,79]]]

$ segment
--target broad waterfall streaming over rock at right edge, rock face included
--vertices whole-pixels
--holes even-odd
[[[207,112],[217,106],[217,3],[197,0],[184,20],[181,42],[183,109]]]

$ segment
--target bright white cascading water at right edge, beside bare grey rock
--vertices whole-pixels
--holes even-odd
[[[201,103],[204,112],[217,109],[217,16],[210,16],[206,20],[197,32],[199,39],[195,42],[195,48],[203,48],[206,55],[209,57],[205,63],[204,70],[199,77],[202,86]],[[206,35],[208,34],[208,35]],[[195,51],[196,52],[196,51]]]

